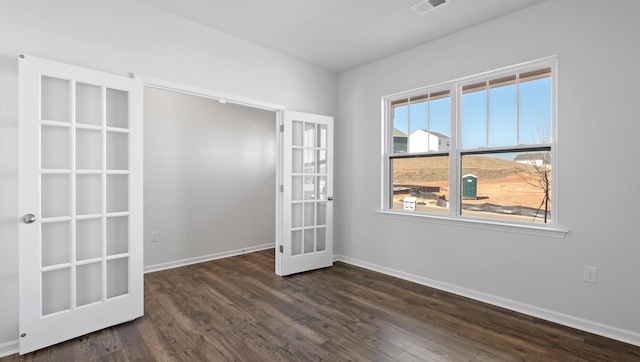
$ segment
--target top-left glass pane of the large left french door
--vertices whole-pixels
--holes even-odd
[[[42,76],[41,115],[43,120],[70,122],[69,81]]]

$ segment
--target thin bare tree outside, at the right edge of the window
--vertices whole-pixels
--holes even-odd
[[[551,140],[551,132],[548,128],[538,130],[539,143],[548,144]],[[524,181],[537,189],[542,190],[543,197],[540,206],[536,211],[533,220],[538,217],[538,212],[544,207],[544,223],[546,224],[551,217],[551,152],[540,151],[527,154],[528,163],[531,167],[527,168],[529,176],[523,177]]]

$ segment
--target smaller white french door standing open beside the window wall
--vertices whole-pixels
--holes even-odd
[[[333,118],[282,112],[276,274],[333,265]]]

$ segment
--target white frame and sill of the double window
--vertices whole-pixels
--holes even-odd
[[[400,92],[382,97],[382,192],[379,214],[384,217],[396,218],[402,220],[411,220],[416,222],[431,222],[438,224],[453,224],[465,227],[475,227],[481,229],[510,231],[516,233],[550,236],[555,238],[563,238],[568,231],[559,228],[558,223],[558,168],[557,168],[557,139],[558,139],[558,127],[557,127],[557,79],[558,79],[558,60],[557,57],[547,57],[531,62],[521,63],[509,67],[500,68],[484,72],[481,74],[459,78],[449,82],[443,82],[423,88],[413,89],[406,92]],[[532,70],[541,68],[551,68],[552,74],[552,115],[551,115],[551,128],[552,139],[550,143],[535,144],[535,145],[515,145],[507,147],[488,147],[478,149],[461,149],[459,142],[462,137],[461,128],[461,107],[462,107],[462,87],[483,82],[487,80],[493,80],[503,76],[525,73]],[[411,98],[418,95],[424,95],[426,93],[433,93],[439,91],[449,90],[451,94],[451,147],[447,151],[429,151],[423,153],[415,153],[412,156],[436,156],[436,155],[449,155],[449,212],[448,214],[430,214],[430,213],[416,213],[413,211],[404,211],[398,209],[391,209],[390,201],[392,198],[392,184],[393,175],[391,174],[391,159],[393,151],[393,107],[392,102],[401,100],[403,98]],[[461,205],[461,160],[463,154],[473,154],[480,152],[494,153],[496,151],[529,151],[536,148],[549,147],[551,150],[551,167],[553,170],[553,177],[551,179],[551,190],[553,190],[554,197],[551,198],[551,210],[553,217],[548,224],[537,223],[522,223],[517,221],[499,220],[492,218],[480,218],[472,217],[462,214]],[[406,155],[404,155],[406,157]]]

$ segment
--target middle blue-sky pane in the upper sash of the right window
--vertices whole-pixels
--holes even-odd
[[[516,76],[489,82],[489,146],[517,144]]]

